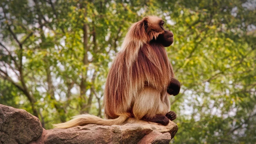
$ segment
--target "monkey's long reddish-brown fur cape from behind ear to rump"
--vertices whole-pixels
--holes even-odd
[[[151,43],[159,32],[146,32],[144,21],[134,23],[125,36],[121,51],[110,67],[105,91],[104,107],[108,119],[120,115],[131,116],[132,98],[144,86],[159,91],[170,82],[171,69],[164,47]]]

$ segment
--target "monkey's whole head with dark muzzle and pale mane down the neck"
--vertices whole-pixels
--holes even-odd
[[[173,43],[173,33],[164,29],[164,21],[157,16],[146,16],[131,25],[122,44],[122,50],[139,48],[146,43],[158,43],[165,47]],[[135,44],[135,45],[133,45]]]

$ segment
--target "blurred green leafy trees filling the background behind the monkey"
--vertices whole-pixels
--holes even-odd
[[[255,0],[1,0],[0,104],[43,127],[104,117],[104,83],[128,27],[143,16],[174,33],[167,53],[181,92],[171,97],[171,143],[255,143]]]

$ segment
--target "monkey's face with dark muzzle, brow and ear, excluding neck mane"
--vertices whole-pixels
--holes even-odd
[[[164,47],[173,43],[173,33],[164,29],[164,21],[156,16],[147,16],[142,19],[143,27],[151,42],[162,44]],[[152,38],[153,36],[153,38]]]

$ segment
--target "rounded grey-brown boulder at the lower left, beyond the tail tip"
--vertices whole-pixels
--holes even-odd
[[[40,120],[26,110],[0,104],[0,143],[27,144],[43,132]]]

